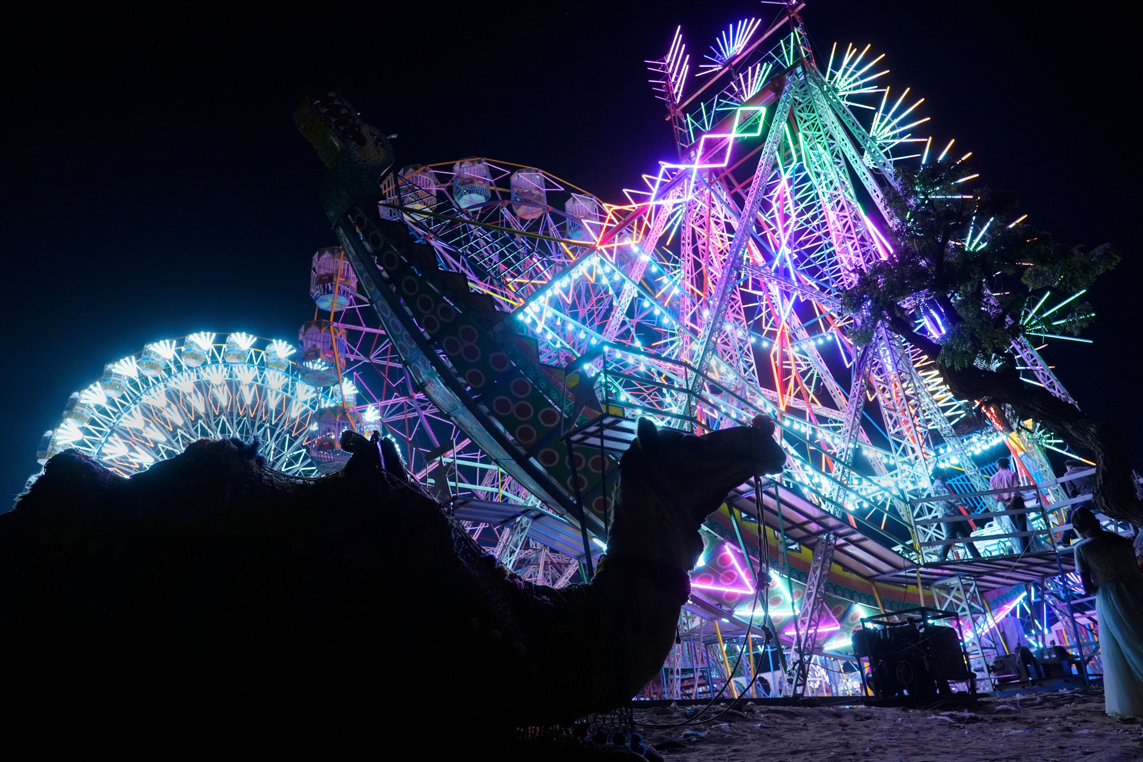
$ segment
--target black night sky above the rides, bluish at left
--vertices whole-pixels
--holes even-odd
[[[339,88],[399,134],[399,165],[485,155],[617,201],[673,154],[644,59],[665,53],[678,24],[694,63],[729,22],[776,13],[757,2],[424,3],[395,18],[386,5],[88,10],[0,32],[0,500],[104,362],[197,330],[296,337],[313,310],[309,258],[334,241],[317,202],[322,167],[290,121],[304,94]],[[1106,7],[994,0],[810,0],[804,16],[818,55],[834,40],[886,53],[888,83],[926,98],[934,143],[956,137],[974,151],[976,170],[1017,191],[1031,222],[1120,248],[1124,263],[1093,294],[1096,343],[1047,358],[1085,410],[1143,430],[1128,330],[1143,283],[1128,235],[1134,23]],[[1143,466],[1137,433],[1133,447]]]

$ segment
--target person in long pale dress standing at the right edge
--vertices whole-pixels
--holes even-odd
[[[1078,508],[1072,522],[1085,538],[1076,566],[1100,618],[1104,708],[1113,717],[1143,716],[1143,572],[1132,542],[1104,530],[1089,508]]]

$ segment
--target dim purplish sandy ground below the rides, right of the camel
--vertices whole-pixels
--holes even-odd
[[[984,762],[1143,760],[1143,723],[1103,713],[1103,696],[1060,692],[985,698],[970,711],[742,706],[713,722],[640,728],[665,760],[886,760]],[[711,712],[713,714],[713,712]],[[671,723],[684,709],[654,708],[637,721]]]

